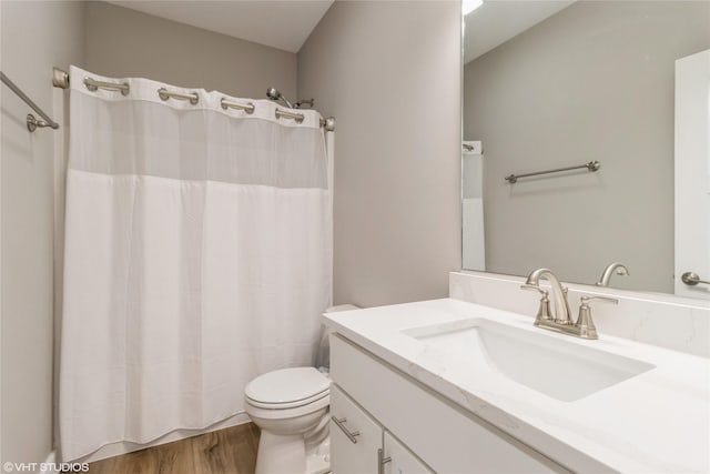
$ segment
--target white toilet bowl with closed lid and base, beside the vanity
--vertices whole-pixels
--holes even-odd
[[[246,385],[246,413],[262,431],[256,474],[329,471],[329,386],[314,367],[268,372]]]

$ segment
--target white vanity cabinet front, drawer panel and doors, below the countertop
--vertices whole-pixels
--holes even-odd
[[[569,472],[337,333],[331,376],[334,474]]]

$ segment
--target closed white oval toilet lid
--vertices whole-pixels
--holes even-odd
[[[260,405],[290,405],[317,400],[327,393],[331,380],[314,367],[293,367],[257,376],[244,394]],[[320,396],[318,396],[320,395]]]

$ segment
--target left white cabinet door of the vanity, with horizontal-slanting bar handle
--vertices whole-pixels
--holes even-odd
[[[337,422],[336,422],[337,421]],[[382,427],[337,385],[331,385],[331,470],[333,474],[377,474]]]

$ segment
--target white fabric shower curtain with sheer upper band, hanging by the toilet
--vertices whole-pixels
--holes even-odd
[[[313,363],[332,288],[332,157],[317,112],[297,123],[267,100],[70,77],[65,461],[243,411],[252,377]],[[91,91],[85,77],[130,91]],[[199,102],[161,100],[160,88]]]

